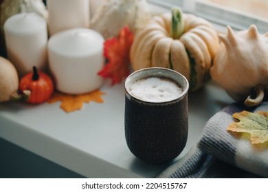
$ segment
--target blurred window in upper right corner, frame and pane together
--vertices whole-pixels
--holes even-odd
[[[254,24],[258,32],[268,32],[268,0],[147,0],[162,8],[179,6],[183,12],[201,16],[215,25],[247,29]]]

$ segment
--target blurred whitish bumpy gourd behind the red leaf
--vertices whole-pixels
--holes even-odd
[[[150,9],[146,0],[110,0],[102,3],[94,14],[90,28],[105,39],[118,36],[120,29],[129,26],[136,31],[150,19]]]

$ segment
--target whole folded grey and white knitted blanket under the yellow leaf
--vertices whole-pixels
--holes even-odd
[[[232,104],[217,112],[205,125],[197,145],[158,178],[268,178],[268,141],[252,145],[245,134],[227,131],[234,112],[243,110],[268,111],[268,102],[256,108]]]

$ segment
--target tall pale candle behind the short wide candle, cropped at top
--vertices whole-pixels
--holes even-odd
[[[49,36],[76,27],[89,27],[89,0],[48,0]]]

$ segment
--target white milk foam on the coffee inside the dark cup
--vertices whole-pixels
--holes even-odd
[[[159,77],[137,80],[129,85],[128,91],[137,99],[155,103],[172,101],[183,93],[175,82]]]

